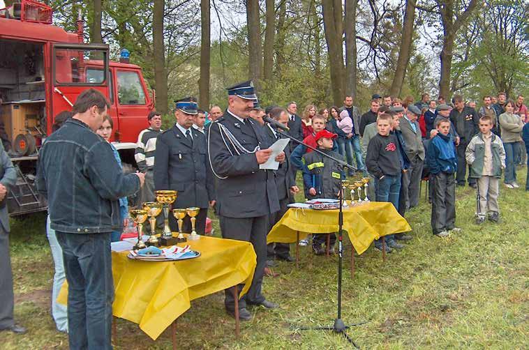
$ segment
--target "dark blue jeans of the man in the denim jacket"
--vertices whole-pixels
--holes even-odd
[[[68,280],[70,349],[112,349],[114,282],[110,232],[57,232]]]

